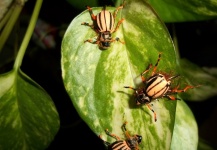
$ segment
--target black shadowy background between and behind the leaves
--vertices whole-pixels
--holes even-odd
[[[31,15],[34,4],[35,1],[27,1],[22,13],[26,16]],[[23,60],[23,72],[48,92],[60,115],[60,130],[48,150],[77,149],[77,147],[81,150],[104,149],[103,143],[78,116],[65,91],[61,77],[60,53],[63,36],[61,33],[83,10],[72,7],[66,1],[53,0],[52,3],[44,1],[39,18],[56,28],[54,37],[57,45],[53,49],[44,50],[31,41]],[[167,25],[170,30],[171,24]],[[217,67],[217,20],[174,25],[182,58],[187,58],[201,67]],[[203,102],[187,101],[197,120],[200,136],[212,144],[217,141],[217,124],[216,119],[213,119],[217,117],[216,99],[217,97]]]

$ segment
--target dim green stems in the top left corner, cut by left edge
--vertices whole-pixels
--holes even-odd
[[[16,0],[13,6],[10,8],[10,10],[7,12],[6,16],[2,20],[3,22],[0,25],[0,29],[3,27],[4,23],[8,20],[10,17],[9,21],[5,25],[4,30],[2,31],[2,34],[0,35],[0,53],[2,51],[2,48],[5,44],[5,42],[8,39],[8,36],[10,35],[12,28],[14,24],[16,23],[20,12],[24,6],[25,1],[24,0]]]

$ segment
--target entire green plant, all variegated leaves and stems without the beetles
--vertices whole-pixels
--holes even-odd
[[[14,5],[0,20],[0,56],[24,6],[24,1],[16,2],[23,5]],[[4,139],[0,140],[0,149],[46,149],[54,142],[56,133],[60,132],[60,112],[57,112],[50,96],[20,70],[41,2],[37,0],[12,70],[0,75],[0,139]],[[108,3],[115,6],[122,3],[121,0],[113,2]],[[80,6],[80,10],[84,10],[85,5],[97,6],[93,8],[94,14],[102,9],[102,1],[72,0],[70,3]],[[89,12],[85,10],[72,17],[62,40],[62,78],[76,111],[95,137],[100,134],[103,139],[112,142],[104,132],[108,128],[124,139],[120,126],[127,121],[130,132],[143,136],[140,149],[212,149],[212,145],[209,146],[206,141],[198,140],[197,122],[186,102],[205,101],[215,96],[216,75],[180,58],[176,29],[172,28],[170,34],[165,23],[171,25],[175,22],[213,19],[217,15],[216,7],[212,0],[126,0],[126,6],[116,18],[116,21],[121,18],[125,20],[113,34],[125,44],[113,42],[105,51],[100,50],[97,44],[84,43],[84,40],[96,36],[91,28],[81,25],[82,22],[92,22]],[[114,11],[115,7],[106,9]],[[18,42],[15,42],[16,53]],[[145,105],[137,107],[133,91],[124,86],[142,86],[139,75],[149,63],[156,62],[159,52],[162,52],[159,71],[181,74],[181,88],[185,84],[201,86],[178,94],[181,101],[154,101],[153,108],[158,118],[154,122],[153,113]],[[0,67],[4,65],[3,59],[0,59]],[[70,117],[67,119],[71,120]],[[80,125],[78,121],[72,127],[77,129]],[[75,130],[73,137],[77,138]],[[67,140],[74,142],[73,139]],[[80,140],[87,143],[92,139]],[[97,143],[102,144],[102,141],[99,139]],[[71,144],[72,148],[75,144]]]

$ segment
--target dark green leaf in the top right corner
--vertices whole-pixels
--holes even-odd
[[[200,21],[217,17],[216,0],[148,0],[165,22]]]

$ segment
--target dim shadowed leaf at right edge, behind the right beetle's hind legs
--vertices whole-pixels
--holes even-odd
[[[194,90],[182,93],[181,97],[183,99],[203,101],[217,95],[217,77],[214,72],[208,72],[211,69],[202,69],[187,59],[181,59],[180,66],[187,83],[194,86],[200,85]]]

